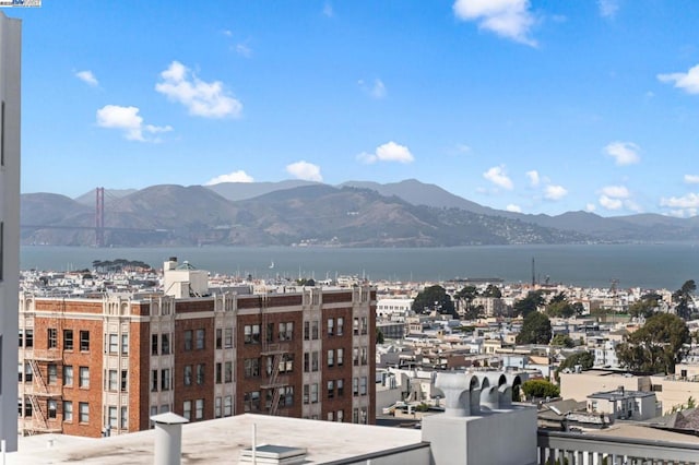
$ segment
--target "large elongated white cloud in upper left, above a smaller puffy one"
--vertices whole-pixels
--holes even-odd
[[[226,93],[221,81],[204,82],[179,61],[161,73],[155,90],[187,107],[190,115],[204,118],[239,117],[242,104]]]

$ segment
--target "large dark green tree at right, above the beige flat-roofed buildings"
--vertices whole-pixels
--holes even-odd
[[[673,373],[691,342],[685,321],[671,313],[655,313],[616,346],[621,366],[632,371]]]

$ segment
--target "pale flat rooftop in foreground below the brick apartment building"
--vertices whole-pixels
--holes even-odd
[[[390,449],[420,444],[422,431],[299,418],[244,414],[182,426],[182,464],[237,463],[240,452],[257,443],[306,449],[312,463],[342,461]],[[64,434],[20,438],[19,452],[7,464],[152,464],[155,430],[110,438]],[[50,444],[50,445],[49,445]]]

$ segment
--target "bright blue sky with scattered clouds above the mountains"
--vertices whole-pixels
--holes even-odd
[[[22,191],[415,178],[500,210],[699,208],[699,2],[44,0]]]

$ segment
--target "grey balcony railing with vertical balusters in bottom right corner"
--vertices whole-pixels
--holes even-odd
[[[699,465],[699,444],[538,430],[540,465]]]

